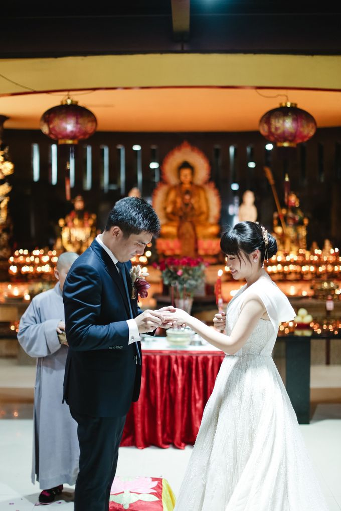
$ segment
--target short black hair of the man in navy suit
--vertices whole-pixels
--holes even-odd
[[[109,213],[105,230],[114,225],[122,229],[125,238],[142,231],[155,236],[160,234],[160,220],[155,211],[149,202],[139,197],[125,197],[116,202]]]

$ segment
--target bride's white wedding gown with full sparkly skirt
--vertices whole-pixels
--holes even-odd
[[[260,319],[242,349],[225,356],[174,511],[327,511],[271,357],[279,323],[294,311],[261,277],[231,300],[228,335],[248,292],[261,297],[270,321]]]

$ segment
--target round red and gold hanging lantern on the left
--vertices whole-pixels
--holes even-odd
[[[93,135],[96,127],[97,120],[93,112],[79,106],[71,98],[44,112],[40,119],[41,131],[57,140],[58,144],[78,144],[79,140]]]

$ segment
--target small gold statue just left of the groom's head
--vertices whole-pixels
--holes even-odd
[[[73,203],[74,210],[58,221],[61,237],[55,248],[81,254],[96,237],[96,215],[84,211],[84,199],[81,195],[78,195]]]

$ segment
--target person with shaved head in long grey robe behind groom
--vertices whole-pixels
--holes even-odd
[[[35,296],[21,316],[18,341],[25,352],[37,358],[34,388],[32,483],[39,481],[39,502],[49,504],[73,485],[78,474],[77,423],[69,406],[62,403],[63,378],[68,351],[62,291],[67,272],[78,255],[64,252],[55,269],[53,289]],[[59,337],[58,337],[59,334]]]

